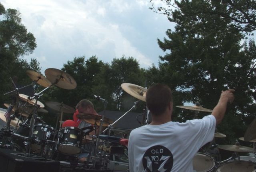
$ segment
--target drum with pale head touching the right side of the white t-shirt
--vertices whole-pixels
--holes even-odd
[[[194,172],[212,172],[215,160],[208,154],[197,152],[193,158]]]

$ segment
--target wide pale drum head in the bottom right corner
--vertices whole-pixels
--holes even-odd
[[[249,161],[232,161],[218,166],[215,172],[255,172],[255,166]]]

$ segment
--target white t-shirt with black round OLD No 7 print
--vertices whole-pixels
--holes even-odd
[[[128,142],[130,172],[193,172],[196,152],[212,141],[216,119],[208,115],[185,123],[144,125]]]

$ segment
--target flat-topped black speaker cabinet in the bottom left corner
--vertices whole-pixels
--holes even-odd
[[[59,172],[60,162],[10,149],[0,149],[0,171]]]

